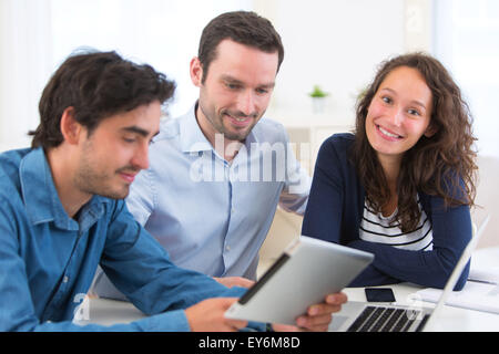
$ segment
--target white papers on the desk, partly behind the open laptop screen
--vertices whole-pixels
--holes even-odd
[[[428,288],[417,291],[413,296],[428,302],[438,302],[440,289]],[[461,291],[452,291],[447,305],[499,314],[499,285],[468,281]]]

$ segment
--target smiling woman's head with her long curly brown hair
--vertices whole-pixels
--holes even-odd
[[[418,223],[418,189],[446,205],[472,206],[471,114],[436,59],[408,54],[385,62],[357,105],[356,135],[354,160],[369,202],[386,215],[398,207],[404,230]]]

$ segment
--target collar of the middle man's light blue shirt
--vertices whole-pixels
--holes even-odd
[[[191,110],[183,116],[179,117],[180,124],[180,142],[182,152],[184,153],[200,153],[214,150],[214,147],[204,136],[196,119],[197,102],[191,107]],[[258,125],[258,124],[256,124]],[[256,126],[246,137],[245,145],[249,147],[251,143],[257,143],[258,139],[255,134]]]

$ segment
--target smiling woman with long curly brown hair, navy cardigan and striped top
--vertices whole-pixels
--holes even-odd
[[[381,63],[357,103],[355,135],[320,147],[302,235],[375,254],[353,287],[442,288],[471,238],[473,142],[468,106],[436,59]]]

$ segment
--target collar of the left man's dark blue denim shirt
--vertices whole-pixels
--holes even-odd
[[[68,216],[59,199],[43,148],[35,148],[23,157],[19,176],[27,214],[33,225],[53,221],[61,229],[80,229],[79,223]],[[88,214],[92,209],[92,215],[98,218],[104,212],[102,202],[109,202],[108,198],[93,196],[83,206],[82,211]]]

